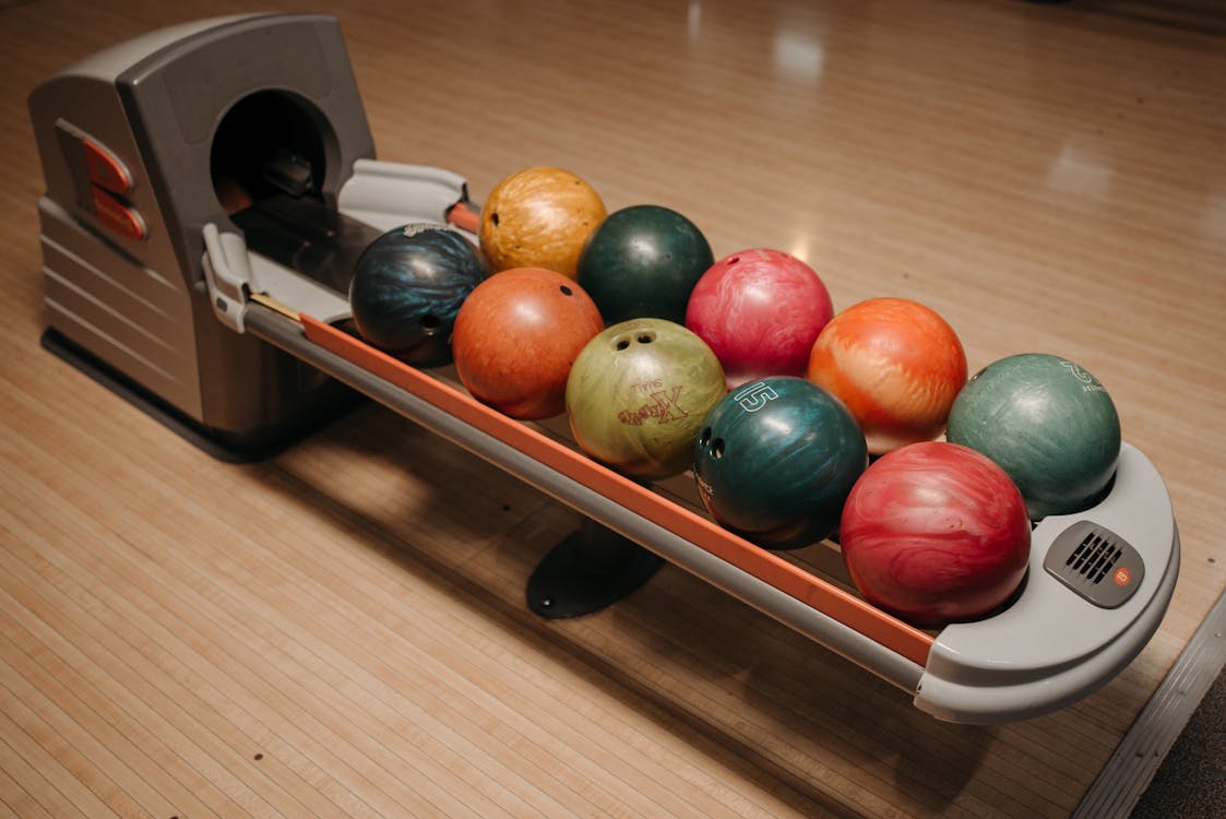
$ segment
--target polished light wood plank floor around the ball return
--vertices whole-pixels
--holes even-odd
[[[211,459],[38,345],[26,97],[234,0],[0,2],[0,814],[1067,815],[1226,587],[1226,25],[1210,4],[270,0],[345,29],[381,158],[522,167],[1057,352],[1166,478],[1172,608],[1100,693],[967,727],[666,568],[524,604],[577,516],[378,407]]]

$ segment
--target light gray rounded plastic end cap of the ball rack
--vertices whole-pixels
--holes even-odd
[[[1118,535],[1145,564],[1135,592],[1106,608],[1043,569],[1048,549],[1084,521]],[[1171,497],[1154,463],[1124,444],[1108,495],[1092,509],[1043,519],[1031,538],[1021,596],[937,635],[915,704],[954,722],[1022,720],[1069,705],[1114,677],[1157,630],[1179,574]]]

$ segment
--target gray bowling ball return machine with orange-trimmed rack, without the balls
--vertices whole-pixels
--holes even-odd
[[[924,631],[720,528],[684,493],[635,483],[363,343],[346,330],[360,250],[413,222],[471,234],[474,207],[454,173],[375,158],[331,17],[152,32],[48,78],[29,108],[47,191],[44,343],[224,457],[260,456],[368,396],[581,512],[571,553],[620,573],[613,597],[667,560],[949,721],[1064,707],[1161,623],[1179,537],[1161,476],[1128,443],[1101,503],[1037,525],[1011,604]],[[623,541],[633,549],[604,548]],[[531,582],[528,600],[574,613],[550,612]]]

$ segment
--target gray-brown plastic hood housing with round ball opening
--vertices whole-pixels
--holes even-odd
[[[336,206],[374,142],[337,22],[321,15],[219,17],[99,51],[29,96],[47,184],[39,200],[47,325],[234,448],[265,446],[338,397],[318,370],[216,321],[205,287],[204,226],[237,232],[219,200],[215,141],[273,101],[283,131],[251,123],[310,158],[310,195]],[[227,119],[229,118],[229,119]],[[262,134],[262,136],[261,136]],[[98,192],[80,153],[104,146],[131,178]],[[234,158],[237,153],[229,154]],[[108,223],[97,201],[145,235]],[[441,215],[440,215],[441,216]]]

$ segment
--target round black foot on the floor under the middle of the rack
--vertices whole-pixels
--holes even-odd
[[[663,565],[656,554],[584,519],[528,577],[528,608],[549,619],[581,617],[618,602]]]

